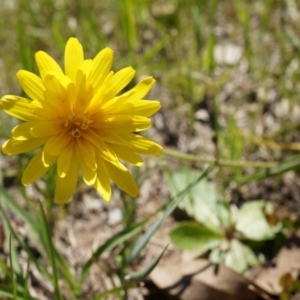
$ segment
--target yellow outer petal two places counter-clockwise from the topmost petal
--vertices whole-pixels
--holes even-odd
[[[17,73],[19,83],[24,92],[33,100],[43,101],[45,86],[43,80],[35,74],[21,70]]]

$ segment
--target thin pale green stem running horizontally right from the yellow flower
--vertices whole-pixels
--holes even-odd
[[[196,156],[192,154],[186,154],[175,150],[170,150],[164,148],[164,155],[172,156],[178,159],[184,159],[189,161],[197,161],[209,164],[216,164],[222,167],[240,167],[240,168],[273,168],[278,166],[278,162],[263,162],[263,161],[237,161],[229,159],[215,159],[215,158],[206,158],[202,156]]]

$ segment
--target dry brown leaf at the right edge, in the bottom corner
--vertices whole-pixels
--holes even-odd
[[[294,281],[300,274],[300,238],[293,237],[281,248],[274,260],[263,268],[253,281],[270,294],[279,295],[284,289],[282,278],[289,274]]]

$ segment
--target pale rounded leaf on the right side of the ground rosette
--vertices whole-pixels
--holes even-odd
[[[246,202],[237,212],[235,228],[244,238],[253,241],[263,241],[272,239],[278,231],[278,226],[272,227],[267,222],[263,211],[266,204],[262,200]],[[271,204],[268,203],[268,205]]]

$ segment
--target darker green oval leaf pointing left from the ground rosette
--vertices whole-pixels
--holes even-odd
[[[219,246],[224,237],[196,222],[182,222],[170,232],[172,242],[182,250],[206,252]]]

